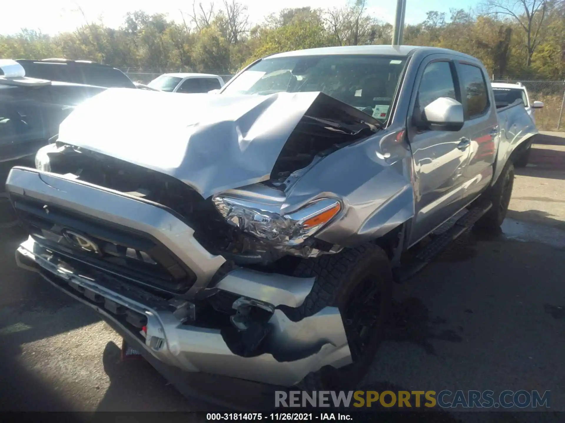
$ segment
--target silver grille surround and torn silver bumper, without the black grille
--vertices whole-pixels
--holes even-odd
[[[115,191],[31,169],[13,169],[6,187],[20,197],[72,207],[83,214],[97,215],[98,219],[111,217],[111,221],[121,224],[132,222],[138,230],[151,231],[163,244],[175,249],[178,257],[193,254],[189,262],[199,276],[197,284],[202,284],[201,288],[224,291],[272,307],[267,322],[270,332],[263,340],[262,353],[245,357],[232,352],[220,328],[199,319],[186,296],[166,300],[120,276],[55,253],[32,237],[19,246],[16,261],[20,267],[39,272],[105,315],[159,362],[183,371],[279,386],[295,385],[325,365],[340,368],[351,363],[344,325],[336,307],[325,307],[299,321],[290,320],[279,307],[301,306],[314,284],[313,278],[239,268],[221,277],[213,287],[204,288],[204,280],[209,281],[214,275],[212,268],[219,267],[223,260],[208,254],[194,239],[192,228],[167,210]],[[136,319],[137,323],[144,321],[145,333],[140,331],[139,324],[130,324]]]

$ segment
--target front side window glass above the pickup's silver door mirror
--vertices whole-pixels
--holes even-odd
[[[425,68],[416,97],[416,108],[421,113],[424,107],[440,97],[457,100],[451,66],[447,61],[434,61]]]

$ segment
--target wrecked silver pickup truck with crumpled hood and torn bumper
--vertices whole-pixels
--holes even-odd
[[[153,362],[346,389],[394,281],[502,223],[536,133],[479,60],[429,47],[276,54],[218,94],[108,89],[11,170],[16,259]]]

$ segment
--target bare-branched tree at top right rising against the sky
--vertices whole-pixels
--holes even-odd
[[[532,55],[541,42],[540,29],[544,25],[549,0],[487,0],[485,6],[487,14],[510,16],[524,30],[528,53],[526,65],[531,65]]]

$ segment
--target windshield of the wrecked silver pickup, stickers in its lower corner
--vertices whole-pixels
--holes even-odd
[[[384,122],[404,56],[328,55],[263,59],[227,85],[224,94],[321,91]]]

